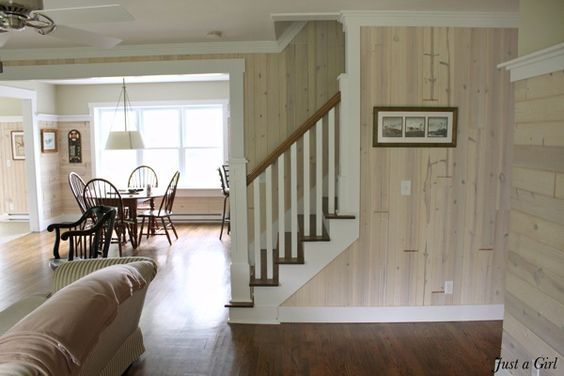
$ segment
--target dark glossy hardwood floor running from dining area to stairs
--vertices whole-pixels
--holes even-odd
[[[180,225],[124,255],[154,258],[141,328],[147,351],[125,375],[491,375],[501,322],[230,325],[229,236]],[[0,310],[49,289],[53,234],[0,245]],[[112,246],[116,252],[117,247]]]

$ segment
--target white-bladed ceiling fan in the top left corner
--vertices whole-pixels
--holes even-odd
[[[121,42],[118,38],[65,26],[65,19],[67,23],[80,24],[131,21],[133,16],[117,4],[44,9],[43,0],[0,0],[0,47],[13,32],[29,29],[40,35],[98,48],[112,48]]]

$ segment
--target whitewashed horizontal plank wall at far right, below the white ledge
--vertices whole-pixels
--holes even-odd
[[[564,158],[563,83],[562,71],[516,83],[502,340],[506,360],[564,356],[564,198],[558,189]]]

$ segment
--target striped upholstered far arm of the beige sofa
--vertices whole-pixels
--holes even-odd
[[[68,284],[92,273],[98,269],[116,264],[129,264],[135,261],[150,261],[151,264],[138,264],[138,271],[147,282],[153,280],[156,274],[156,263],[148,257],[111,257],[96,258],[88,260],[69,261],[61,264],[53,274],[53,282],[51,284],[51,293],[55,293]]]

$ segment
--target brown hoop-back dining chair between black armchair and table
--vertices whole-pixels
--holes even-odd
[[[108,180],[96,178],[88,181],[83,191],[84,203],[87,208],[94,206],[113,206],[116,208],[116,219],[114,230],[119,249],[119,256],[122,255],[122,244],[127,242],[127,235],[133,248],[137,247],[137,234],[133,230],[135,227],[135,214],[133,219],[126,212],[119,190]]]

